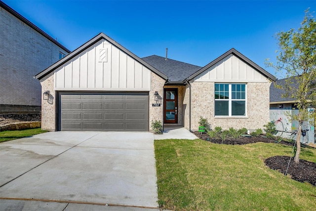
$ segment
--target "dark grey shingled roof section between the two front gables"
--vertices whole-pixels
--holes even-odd
[[[142,58],[145,62],[168,76],[169,84],[182,83],[185,79],[197,72],[202,67],[180,62],[173,59],[165,59],[165,57],[152,55]]]

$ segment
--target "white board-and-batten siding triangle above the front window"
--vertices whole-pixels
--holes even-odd
[[[224,83],[269,82],[264,75],[233,54],[212,65],[194,80]]]

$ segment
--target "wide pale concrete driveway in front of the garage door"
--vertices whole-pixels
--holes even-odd
[[[158,208],[154,134],[59,131],[1,143],[0,199]]]

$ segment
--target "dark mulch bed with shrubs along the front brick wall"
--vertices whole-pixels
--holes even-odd
[[[258,137],[240,137],[240,138],[229,138],[225,141],[222,141],[221,139],[210,139],[209,135],[207,133],[200,133],[200,132],[193,132],[199,139],[201,140],[205,140],[205,141],[209,141],[212,143],[216,143],[216,144],[250,144],[250,143],[256,143],[256,142],[265,142],[265,143],[279,143],[279,144],[284,144],[284,145],[288,145],[288,146],[293,146],[294,143],[292,142],[288,142],[288,141],[278,141],[276,139],[272,139],[272,138],[267,138],[264,136],[258,136]]]

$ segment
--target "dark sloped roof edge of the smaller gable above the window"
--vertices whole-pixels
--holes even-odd
[[[266,70],[264,70],[262,67],[260,67],[259,65],[257,65],[256,63],[254,63],[253,61],[251,61],[250,59],[248,59],[247,57],[245,57],[244,55],[242,55],[240,52],[238,52],[235,48],[230,49],[229,51],[227,51],[226,53],[224,53],[223,55],[219,56],[218,58],[216,58],[215,60],[213,60],[212,62],[210,62],[209,64],[207,64],[206,66],[204,66],[203,68],[201,68],[200,70],[198,70],[196,73],[192,74],[191,76],[189,76],[186,80],[190,81],[192,79],[194,79],[195,77],[197,77],[199,74],[203,73],[204,71],[206,71],[208,68],[210,68],[211,66],[213,66],[214,64],[216,64],[217,62],[221,61],[222,59],[224,59],[226,56],[233,54],[235,56],[237,56],[239,59],[243,60],[245,63],[247,63],[248,65],[250,65],[251,67],[253,67],[255,70],[259,71],[260,73],[262,73],[265,77],[267,77],[268,79],[271,79],[273,81],[276,81],[276,77],[274,77],[273,75],[271,75],[270,73],[268,73]]]

